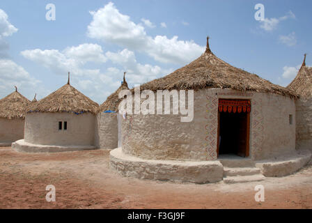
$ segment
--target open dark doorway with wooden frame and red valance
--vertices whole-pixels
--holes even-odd
[[[219,99],[218,156],[249,156],[250,100]]]

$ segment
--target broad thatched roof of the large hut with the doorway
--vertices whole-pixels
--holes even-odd
[[[238,91],[269,92],[280,95],[289,95],[297,98],[297,94],[282,86],[251,74],[222,61],[215,56],[209,47],[192,63],[184,66],[170,75],[155,79],[141,85],[143,90],[171,90],[171,89],[235,89]]]

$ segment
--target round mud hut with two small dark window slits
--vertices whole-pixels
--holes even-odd
[[[29,105],[24,139],[12,147],[31,153],[94,149],[97,109],[96,102],[70,85],[68,75],[68,84]]]

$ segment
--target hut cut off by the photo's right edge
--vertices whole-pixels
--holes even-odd
[[[296,101],[296,148],[312,151],[312,68],[304,61],[295,79],[287,86],[300,95]]]

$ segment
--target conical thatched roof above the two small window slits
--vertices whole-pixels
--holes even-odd
[[[95,114],[98,106],[98,103],[71,86],[68,78],[68,84],[38,102],[31,103],[27,112],[75,112],[76,114],[91,112]]]

